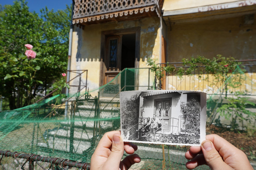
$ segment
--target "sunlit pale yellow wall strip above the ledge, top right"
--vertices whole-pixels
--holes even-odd
[[[193,8],[207,5],[223,4],[228,2],[236,2],[238,0],[165,0],[163,5],[164,11],[180,10],[185,8]]]

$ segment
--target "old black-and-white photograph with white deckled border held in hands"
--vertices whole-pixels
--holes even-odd
[[[178,90],[120,93],[124,141],[200,146],[206,136],[206,93]]]

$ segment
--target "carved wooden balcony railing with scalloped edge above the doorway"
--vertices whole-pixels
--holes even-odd
[[[161,15],[164,0],[75,0],[73,24]],[[155,12],[154,12],[155,11]]]

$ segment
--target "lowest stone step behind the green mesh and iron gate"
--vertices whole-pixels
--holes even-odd
[[[62,138],[54,138],[52,136],[49,136],[48,138],[48,145],[47,143],[38,143],[38,147],[46,148],[46,149],[54,149],[62,152],[69,152],[69,145],[70,140],[69,139],[62,139]],[[73,153],[82,154],[83,151],[86,151],[91,147],[90,142],[86,141],[76,141],[74,140],[74,150]]]

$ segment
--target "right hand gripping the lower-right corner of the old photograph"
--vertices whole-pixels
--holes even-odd
[[[191,146],[185,157],[187,169],[205,164],[212,170],[253,170],[244,152],[215,134],[207,135],[201,147]]]

